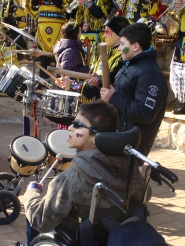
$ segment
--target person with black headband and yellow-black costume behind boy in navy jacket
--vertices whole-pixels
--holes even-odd
[[[119,33],[120,31],[129,25],[129,21],[124,16],[113,16],[105,23],[105,32],[103,38],[107,43],[107,58],[108,58],[108,68],[110,81],[114,81],[114,78],[118,71],[123,66],[123,62],[121,61],[121,55],[118,51],[118,46],[120,43]],[[97,61],[97,65],[93,71],[92,78],[87,80],[87,82],[76,82],[70,81],[69,78],[63,77],[61,81],[58,81],[58,86],[62,89],[68,89],[72,91],[80,92],[83,96],[88,99],[92,99],[93,97],[100,98],[100,88],[101,77],[102,77],[102,63],[100,58]],[[99,79],[98,82],[97,78]]]

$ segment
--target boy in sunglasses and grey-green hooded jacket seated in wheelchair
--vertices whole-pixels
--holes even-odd
[[[31,182],[24,194],[27,246],[39,232],[50,232],[61,226],[75,233],[80,218],[88,217],[94,184],[104,182],[125,196],[130,158],[124,154],[105,155],[95,145],[96,133],[117,131],[116,109],[102,100],[83,104],[68,131],[68,146],[77,149],[71,166],[50,181],[45,196],[36,182]],[[131,205],[141,201],[143,186],[144,179],[136,164],[131,181]],[[151,194],[147,200],[150,197]],[[118,209],[108,199],[100,196],[97,204],[107,215],[118,215]],[[118,221],[124,220],[120,215],[117,217]]]

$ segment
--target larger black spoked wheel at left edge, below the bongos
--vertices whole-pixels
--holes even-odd
[[[0,225],[7,225],[17,219],[21,204],[11,191],[0,191]]]

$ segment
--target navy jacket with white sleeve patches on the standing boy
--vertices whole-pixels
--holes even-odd
[[[130,130],[134,126],[140,128],[141,144],[138,151],[145,156],[154,143],[168,96],[168,87],[156,57],[157,52],[152,50],[126,63],[115,77],[116,92],[109,100],[119,112],[119,131]]]

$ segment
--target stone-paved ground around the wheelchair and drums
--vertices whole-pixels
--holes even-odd
[[[8,145],[15,137],[22,135],[22,128],[22,124],[0,123],[0,172],[12,173],[10,164],[6,161],[9,156]],[[53,129],[56,127],[42,128],[42,140]],[[33,135],[32,132],[31,134]],[[179,182],[174,185],[176,189],[174,193],[164,183],[158,186],[151,182],[153,197],[148,205],[150,212],[148,221],[165,237],[170,246],[183,246],[185,245],[185,155],[174,150],[153,149],[149,157],[170,168],[178,175]],[[33,176],[27,178],[22,185],[19,196],[22,207],[17,220],[8,225],[0,225],[0,246],[14,245],[16,241],[26,243],[23,194],[27,183],[32,179]]]

